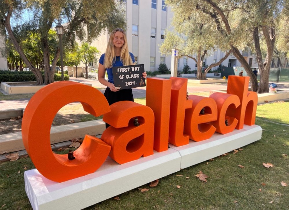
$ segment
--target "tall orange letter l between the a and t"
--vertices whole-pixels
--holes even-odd
[[[155,115],[153,149],[158,152],[168,150],[171,85],[171,80],[147,79],[146,106],[149,106]]]

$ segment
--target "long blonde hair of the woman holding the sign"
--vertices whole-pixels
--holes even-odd
[[[121,47],[121,54],[120,54],[121,62],[123,63],[124,66],[133,65],[133,62],[131,60],[131,56],[129,54],[128,47],[127,47],[127,38],[126,38],[125,31],[122,28],[115,28],[114,30],[112,30],[110,34],[108,45],[106,47],[105,57],[104,57],[105,68],[111,68],[112,62],[115,62],[116,54],[114,51],[113,39],[114,39],[115,33],[118,31],[123,33],[123,41],[124,41],[123,46]]]

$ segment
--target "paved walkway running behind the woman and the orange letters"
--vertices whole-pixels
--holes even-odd
[[[93,87],[99,89],[102,93],[106,86],[100,84],[100,82],[96,79],[84,79],[84,78],[70,78],[70,80],[75,80],[78,82],[87,82],[92,84]],[[288,88],[289,83],[276,83],[278,88]],[[207,92],[207,91],[215,91],[215,90],[226,90],[227,83],[214,83],[214,84],[197,84],[197,83],[188,83],[187,90],[189,93],[198,93],[198,92]],[[146,87],[134,88],[133,89],[134,98],[142,98],[146,96]],[[19,109],[25,108],[29,99],[19,99],[19,100],[0,100],[0,111],[1,110],[9,110],[9,109]]]

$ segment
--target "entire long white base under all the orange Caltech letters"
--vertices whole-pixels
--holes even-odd
[[[25,189],[33,209],[82,209],[257,141],[261,134],[260,126],[244,126],[182,147],[170,145],[168,151],[122,165],[108,157],[95,173],[62,183],[48,180],[36,169],[29,170],[24,173]]]

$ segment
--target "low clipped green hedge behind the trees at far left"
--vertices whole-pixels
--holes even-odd
[[[44,72],[41,72],[44,79]],[[54,81],[60,81],[61,74],[54,74]],[[69,80],[69,76],[64,74],[64,80]],[[0,71],[0,82],[33,82],[36,77],[32,71]],[[44,82],[44,81],[43,81]]]

